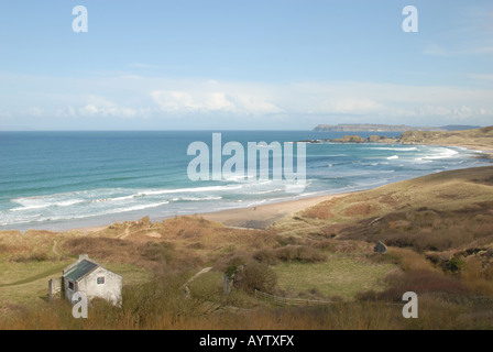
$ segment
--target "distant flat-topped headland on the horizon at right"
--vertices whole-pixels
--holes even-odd
[[[459,130],[472,130],[480,127],[475,125],[446,125],[446,127],[410,127],[405,124],[319,124],[314,131],[315,132],[407,132],[407,131],[459,131]]]

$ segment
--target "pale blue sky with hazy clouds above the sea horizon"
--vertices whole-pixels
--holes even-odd
[[[0,2],[0,131],[337,123],[493,124],[493,1]]]

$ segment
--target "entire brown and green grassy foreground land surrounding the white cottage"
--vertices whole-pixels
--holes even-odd
[[[1,231],[0,329],[490,329],[491,209],[493,166],[333,197],[266,230],[194,216]],[[122,307],[97,301],[87,321],[47,300],[47,279],[81,253],[123,276]],[[240,273],[230,294],[224,273]],[[418,320],[402,317],[409,290]]]

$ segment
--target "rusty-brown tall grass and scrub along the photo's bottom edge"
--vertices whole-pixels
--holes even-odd
[[[419,296],[418,319],[403,318],[402,301],[390,305],[383,300],[336,301],[317,307],[270,308],[259,305],[231,309],[234,307],[227,304],[185,298],[180,287],[189,275],[174,273],[155,276],[145,284],[127,286],[121,308],[95,300],[89,307],[88,319],[74,319],[72,306],[65,300],[42,301],[36,307],[22,309],[17,307],[15,315],[0,317],[0,329],[430,330],[492,327],[490,304],[458,302],[434,294]],[[217,278],[217,275],[204,276],[201,284],[208,282],[206,286],[211,284],[213,290]]]

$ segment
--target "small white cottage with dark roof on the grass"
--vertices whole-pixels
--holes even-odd
[[[62,289],[72,301],[75,293],[84,293],[88,300],[99,297],[113,305],[121,304],[122,277],[101,264],[80,255],[78,261],[68,265],[62,276]]]

